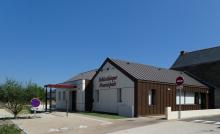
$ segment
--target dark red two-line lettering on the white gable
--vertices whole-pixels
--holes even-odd
[[[111,88],[117,85],[118,76],[107,76],[107,77],[100,77],[99,78],[99,87],[100,88]]]

